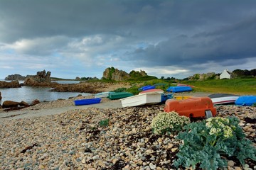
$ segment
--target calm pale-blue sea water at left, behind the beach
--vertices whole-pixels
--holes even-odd
[[[4,81],[4,80],[0,80]],[[23,81],[19,81],[23,83]],[[58,82],[59,84],[76,84],[79,81],[53,81]],[[22,86],[21,88],[0,88],[2,99],[0,103],[4,101],[25,101],[31,103],[33,100],[38,99],[39,101],[55,101],[59,98],[68,99],[70,97],[78,96],[90,96],[91,94],[87,93],[78,93],[78,92],[54,92],[50,91],[50,88],[46,87],[31,87],[31,86]]]

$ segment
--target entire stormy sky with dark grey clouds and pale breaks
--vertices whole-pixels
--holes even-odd
[[[0,0],[0,79],[256,68],[256,1]]]

